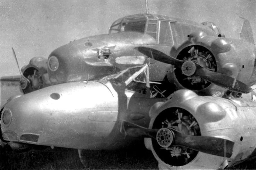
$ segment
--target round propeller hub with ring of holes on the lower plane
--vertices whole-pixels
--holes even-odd
[[[173,139],[174,133],[169,128],[161,128],[156,133],[157,143],[163,148],[169,147],[172,144]]]

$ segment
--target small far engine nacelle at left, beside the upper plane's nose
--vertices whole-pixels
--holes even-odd
[[[29,80],[20,80],[20,91],[24,94],[51,85],[47,74],[47,59],[43,57],[32,58],[28,65],[22,67],[21,72]]]

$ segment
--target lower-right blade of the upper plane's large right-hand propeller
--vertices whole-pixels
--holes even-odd
[[[244,84],[236,78],[229,77],[226,74],[212,72],[210,70],[204,69],[201,66],[199,67],[200,68],[196,70],[195,75],[204,78],[205,80],[215,85],[219,85],[220,87],[228,88],[230,91],[239,93],[249,93],[253,90],[250,86]]]

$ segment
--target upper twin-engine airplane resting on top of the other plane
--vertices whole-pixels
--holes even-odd
[[[241,32],[243,40],[235,40],[223,38],[225,35],[221,34],[220,28],[211,22],[198,24],[153,14],[125,16],[110,26],[108,34],[72,41],[52,51],[48,60],[32,58],[21,69],[24,78],[20,80],[20,87],[24,93],[28,93],[49,85],[100,79],[145,63],[150,64],[150,81],[162,83],[157,85],[160,93],[166,89],[166,85],[172,85],[173,88],[169,88],[166,95],[184,88],[212,95],[224,91],[221,87],[230,88],[228,84],[233,84],[232,78],[252,85],[254,42],[250,23],[248,25],[246,21]],[[244,42],[244,39],[249,42]],[[136,50],[135,47],[141,46],[148,49]],[[147,53],[151,53],[149,48],[180,60],[191,60],[211,72],[186,76],[170,63],[156,62],[146,57]],[[231,60],[236,62],[235,65],[230,63]],[[213,72],[232,78],[223,84],[223,77],[217,78],[218,75]],[[10,77],[1,78],[1,81],[4,80],[9,81]]]

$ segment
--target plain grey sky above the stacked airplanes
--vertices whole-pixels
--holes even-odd
[[[108,33],[118,18],[145,13],[145,0],[0,0],[0,76],[18,75],[32,57],[48,58],[69,41]],[[149,13],[212,21],[238,38],[247,18],[256,37],[255,0],[148,0]]]

